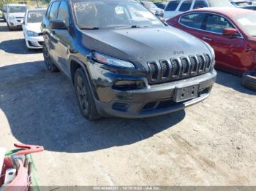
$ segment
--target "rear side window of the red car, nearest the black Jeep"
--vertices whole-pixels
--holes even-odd
[[[204,13],[193,13],[181,17],[180,23],[184,26],[200,29],[203,23]]]

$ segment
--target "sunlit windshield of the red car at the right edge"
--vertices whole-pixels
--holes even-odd
[[[256,37],[256,12],[249,12],[235,17],[239,26],[252,37]]]

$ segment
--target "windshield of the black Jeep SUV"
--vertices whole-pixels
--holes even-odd
[[[79,28],[122,28],[165,26],[135,1],[77,0],[73,3]]]

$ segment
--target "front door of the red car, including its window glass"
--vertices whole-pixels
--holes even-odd
[[[245,44],[244,38],[241,34],[225,36],[222,34],[224,28],[235,28],[235,26],[221,15],[207,13],[202,25],[203,31],[201,36],[198,37],[214,48],[217,67],[239,71],[242,66],[241,57]]]

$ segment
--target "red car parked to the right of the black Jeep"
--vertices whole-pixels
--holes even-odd
[[[216,67],[236,74],[256,70],[256,12],[238,8],[203,8],[167,20],[214,48]]]

